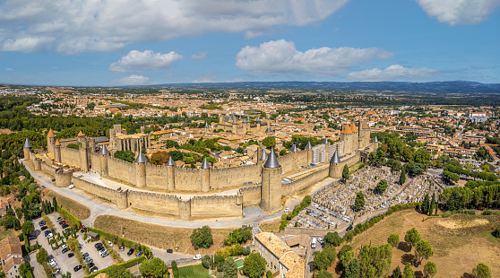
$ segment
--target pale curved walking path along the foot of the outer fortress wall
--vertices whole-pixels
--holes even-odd
[[[88,227],[93,227],[93,223],[99,215],[114,215],[117,217],[122,217],[125,219],[130,219],[138,222],[146,222],[151,224],[157,224],[169,227],[179,227],[179,228],[200,228],[204,225],[208,225],[211,228],[229,228],[229,227],[241,227],[242,225],[252,225],[255,222],[268,222],[273,220],[278,220],[283,212],[279,213],[264,213],[260,207],[252,206],[243,209],[245,218],[241,219],[231,219],[220,218],[220,219],[206,219],[206,220],[195,220],[195,221],[182,221],[173,220],[159,217],[147,217],[143,215],[138,215],[131,213],[127,210],[118,210],[116,205],[113,204],[102,204],[92,199],[90,196],[86,195],[82,190],[73,188],[69,189],[67,187],[56,187],[52,184],[52,178],[48,177],[43,172],[35,172],[31,170],[26,163],[22,160],[22,163],[30,171],[30,174],[35,178],[40,186],[45,186],[50,190],[55,191],[60,195],[65,195],[74,201],[87,206],[91,210],[91,216],[87,219],[82,220],[82,223]],[[309,195],[313,195],[316,191],[320,190],[322,187],[332,183],[332,178],[324,178],[322,181],[316,183],[312,188]],[[302,201],[301,197],[289,197],[287,198],[286,207],[293,208],[295,205]]]

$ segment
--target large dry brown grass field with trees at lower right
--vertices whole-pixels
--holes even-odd
[[[500,240],[491,235],[493,228],[500,225],[500,215],[455,214],[446,219],[431,218],[422,222],[424,217],[413,210],[393,213],[356,236],[352,247],[358,252],[365,244],[380,246],[387,243],[389,235],[397,233],[401,243],[399,248],[392,248],[391,272],[398,265],[402,270],[414,255],[414,250],[407,248],[404,235],[407,230],[415,228],[422,239],[430,241],[435,251],[429,259],[437,265],[435,277],[461,277],[470,274],[479,263],[489,265],[492,274],[500,273]],[[423,275],[426,263],[427,260],[424,260],[418,267],[412,266],[417,277]],[[338,274],[334,276],[339,277]]]

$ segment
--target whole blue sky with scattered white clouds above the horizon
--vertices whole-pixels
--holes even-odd
[[[500,0],[0,1],[0,83],[500,83]]]

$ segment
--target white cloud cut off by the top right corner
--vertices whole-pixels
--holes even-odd
[[[493,13],[500,0],[417,0],[429,16],[450,25],[475,24]]]

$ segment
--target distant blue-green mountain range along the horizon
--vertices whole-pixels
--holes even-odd
[[[400,91],[427,93],[500,93],[500,83],[447,81],[430,83],[409,82],[238,82],[238,83],[172,83],[141,87],[185,89],[254,89],[254,90],[340,90],[340,91]]]

